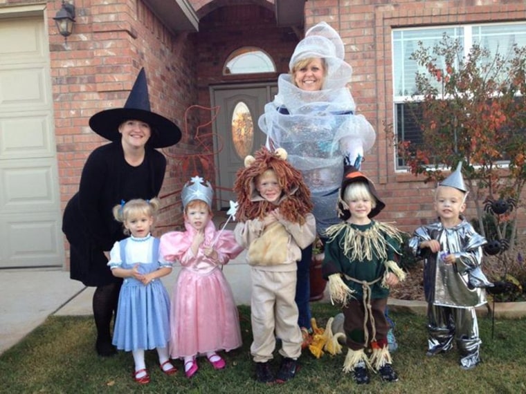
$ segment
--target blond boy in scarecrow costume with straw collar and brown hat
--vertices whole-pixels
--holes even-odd
[[[341,303],[349,348],[343,371],[356,384],[368,384],[368,368],[386,382],[396,382],[388,348],[389,323],[384,314],[389,287],[405,279],[395,262],[401,233],[387,223],[373,221],[386,205],[372,181],[350,166],[339,191],[338,215],[343,223],[327,229],[323,276],[332,301]],[[370,358],[365,350],[372,349]]]

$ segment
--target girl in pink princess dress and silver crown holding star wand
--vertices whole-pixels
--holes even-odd
[[[215,229],[212,195],[210,183],[201,177],[187,182],[181,194],[186,231],[161,236],[159,260],[182,266],[172,294],[170,355],[184,359],[187,377],[199,368],[197,356],[206,355],[215,369],[222,369],[226,363],[216,352],[242,345],[237,307],[221,265],[243,248],[233,232]]]

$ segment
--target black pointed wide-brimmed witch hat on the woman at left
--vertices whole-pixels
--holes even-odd
[[[89,126],[101,137],[110,141],[119,141],[118,126],[130,119],[141,120],[149,124],[152,128],[152,135],[147,143],[151,147],[170,147],[181,140],[181,130],[174,122],[150,111],[144,68],[140,69],[124,107],[96,113],[90,118]]]

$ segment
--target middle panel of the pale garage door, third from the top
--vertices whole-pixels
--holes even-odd
[[[6,118],[0,115],[1,158],[53,156],[50,124],[48,112],[10,113]]]

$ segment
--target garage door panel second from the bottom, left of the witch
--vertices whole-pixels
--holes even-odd
[[[54,193],[56,177],[53,176],[53,160],[0,162],[0,214],[55,209],[57,196]]]

